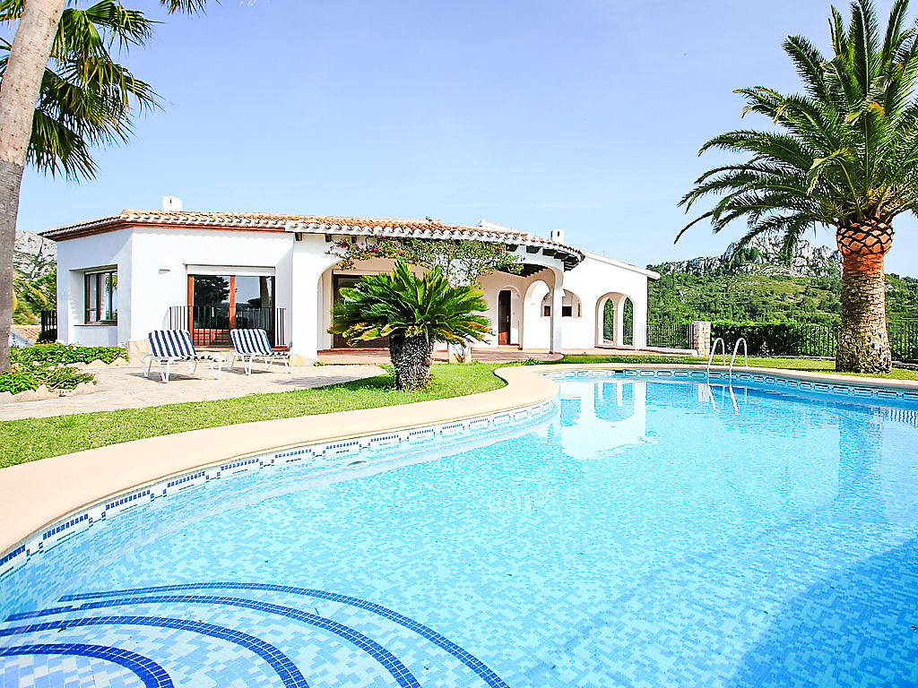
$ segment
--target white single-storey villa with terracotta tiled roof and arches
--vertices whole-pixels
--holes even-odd
[[[482,221],[125,210],[43,235],[58,244],[58,339],[84,346],[125,346],[154,329],[183,328],[196,346],[229,346],[231,327],[263,327],[278,346],[305,359],[344,347],[328,333],[342,286],[388,272],[392,261],[342,270],[334,241],[380,237],[500,242],[521,257],[519,274],[481,279],[494,336],[482,346],[586,350],[646,344],[647,281],[655,272],[578,250],[564,232],[550,239]],[[630,300],[633,322],[625,323]],[[614,324],[606,327],[607,301]],[[627,340],[626,340],[627,337]]]

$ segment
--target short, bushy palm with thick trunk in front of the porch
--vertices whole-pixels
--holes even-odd
[[[420,389],[431,375],[436,342],[465,344],[489,334],[482,293],[472,286],[450,286],[440,268],[422,277],[397,261],[390,274],[369,275],[352,289],[341,289],[332,334],[353,346],[359,341],[389,338],[389,356],[399,390]]]

